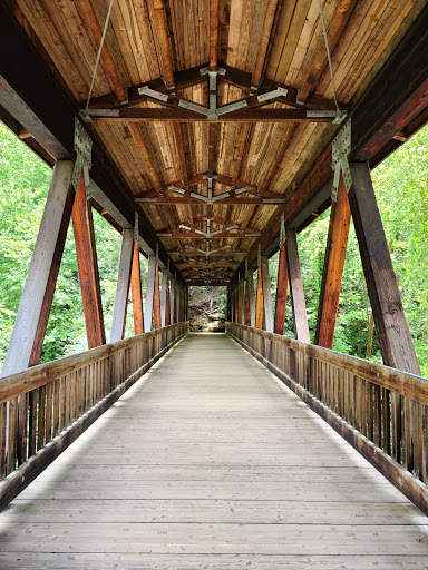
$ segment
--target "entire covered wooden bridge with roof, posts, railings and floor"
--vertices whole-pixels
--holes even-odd
[[[0,118],[54,168],[0,568],[427,568],[427,380],[370,169],[427,122],[428,2],[3,0],[0,52]],[[330,205],[312,344],[296,234]],[[107,336],[94,209],[123,235]],[[331,351],[351,217],[385,365]],[[89,350],[39,365],[70,219]],[[188,333],[205,284],[225,334]]]

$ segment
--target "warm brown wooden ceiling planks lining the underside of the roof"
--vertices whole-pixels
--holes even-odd
[[[109,0],[17,3],[76,100],[85,101]],[[416,4],[424,4],[424,0],[322,1],[342,104],[348,105],[367,82],[370,70],[388,51]],[[250,73],[253,86],[263,87],[266,77],[302,89],[302,102],[312,94],[328,99],[333,96],[317,0],[116,0],[93,96],[116,91],[124,100],[123,88],[160,76],[173,88],[175,72],[207,62],[212,71],[217,65],[226,65]],[[250,94],[250,83],[243,89],[221,79],[218,76],[218,106]],[[200,85],[177,95],[207,105],[206,81],[201,76]],[[132,108],[162,106],[147,100],[133,102]],[[266,108],[284,106],[273,102]],[[274,190],[290,196],[337,130],[332,125],[312,122],[208,125],[124,120],[93,125],[134,195],[153,189],[162,194],[165,185],[174,180],[183,180],[186,187],[189,177],[218,173],[231,177],[232,186],[246,180],[257,185],[261,195]],[[215,179],[213,188],[214,196],[231,189]],[[187,196],[191,191],[207,196],[207,183],[185,191]],[[183,223],[192,225],[202,215],[213,214],[226,224],[264,229],[281,209],[274,205],[202,202],[140,206],[156,229],[169,226],[174,232]],[[213,227],[217,226],[213,223]],[[224,237],[212,239],[212,247],[230,244],[232,248],[250,248],[254,240]],[[182,242],[182,250],[193,243],[191,238]],[[164,243],[169,249],[177,247],[172,238],[165,237]]]

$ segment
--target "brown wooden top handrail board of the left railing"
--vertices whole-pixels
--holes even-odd
[[[56,361],[47,362],[45,364],[38,364],[17,374],[4,376],[0,379],[0,404],[11,400],[12,397],[21,396],[36,390],[37,387],[49,384],[54,380],[64,376],[65,374],[71,374],[72,372],[103,361],[108,356],[121,352],[126,348],[139,344],[142,341],[147,341],[158,336],[168,328],[173,328],[182,323],[174,323],[163,328],[155,328],[140,335],[130,336],[116,343],[104,344],[96,348],[90,348],[85,352],[72,354],[70,356],[64,356]]]

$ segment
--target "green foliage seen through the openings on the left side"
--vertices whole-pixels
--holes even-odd
[[[35,247],[51,169],[0,124],[0,358],[3,360]],[[111,324],[120,235],[97,213],[94,226],[105,325]],[[129,313],[129,312],[128,312]],[[132,321],[127,334],[133,334]],[[70,224],[41,362],[87,348]]]

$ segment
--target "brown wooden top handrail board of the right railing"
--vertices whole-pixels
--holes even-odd
[[[288,336],[280,334],[268,333],[261,328],[254,328],[247,325],[230,322],[226,323],[226,326],[227,325],[241,326],[242,328],[251,333],[255,333],[259,336],[263,336],[264,338],[275,343],[284,344],[293,351],[318,358],[321,362],[342,368],[350,374],[368,380],[372,384],[377,384],[378,386],[386,387],[397,394],[409,397],[414,402],[428,405],[428,379],[424,376],[391,368],[385,364],[364,361],[357,356],[342,354],[314,344],[303,343],[302,341],[289,338]]]

